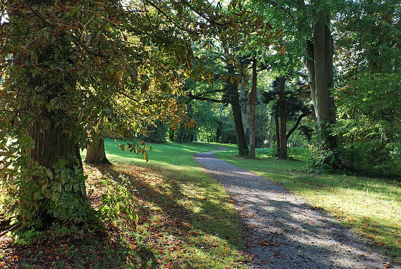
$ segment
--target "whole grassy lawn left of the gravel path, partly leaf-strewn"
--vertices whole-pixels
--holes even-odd
[[[120,214],[109,219],[103,233],[60,229],[55,240],[40,244],[14,247],[3,242],[0,262],[27,268],[246,268],[250,257],[241,252],[233,201],[192,158],[216,147],[152,146],[146,163],[106,140],[113,165],[84,165],[92,205],[98,206],[107,186],[112,195],[118,189],[122,200],[127,195],[134,205],[136,226]]]

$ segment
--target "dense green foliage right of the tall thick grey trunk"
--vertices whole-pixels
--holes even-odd
[[[341,8],[337,53],[346,64],[337,67],[333,129],[341,165],[358,173],[399,175],[401,7],[393,1],[355,1]]]

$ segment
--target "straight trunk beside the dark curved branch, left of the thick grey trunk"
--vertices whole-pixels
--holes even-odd
[[[280,78],[280,159],[287,160],[287,104],[285,100],[285,77]]]

